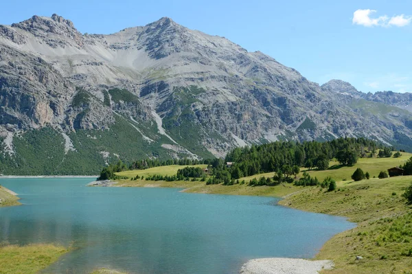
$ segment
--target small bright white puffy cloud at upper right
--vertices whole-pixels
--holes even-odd
[[[389,17],[387,15],[378,16],[377,18],[372,18],[371,14],[374,14],[376,10],[356,10],[354,12],[354,17],[352,18],[352,23],[354,25],[363,25],[365,27],[404,27],[409,25],[412,21],[412,16],[405,16],[404,14],[395,15]]]

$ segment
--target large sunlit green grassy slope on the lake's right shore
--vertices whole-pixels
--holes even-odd
[[[339,182],[335,192],[308,187],[279,204],[346,216],[358,227],[334,236],[316,259],[333,260],[323,273],[412,273],[412,207],[402,194],[412,176]],[[360,255],[363,260],[355,260]]]

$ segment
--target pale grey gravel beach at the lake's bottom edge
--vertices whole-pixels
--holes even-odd
[[[318,274],[322,269],[332,269],[330,260],[266,258],[250,260],[242,266],[242,274]]]

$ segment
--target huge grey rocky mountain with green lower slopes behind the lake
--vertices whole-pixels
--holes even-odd
[[[364,96],[166,17],[109,35],[56,14],[0,25],[3,174],[96,174],[117,159],[222,157],[275,140],[411,150],[412,114]]]

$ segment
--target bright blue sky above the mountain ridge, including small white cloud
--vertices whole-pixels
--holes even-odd
[[[319,84],[336,78],[364,92],[412,92],[412,1],[4,2],[1,24],[57,13],[82,33],[109,34],[168,16],[260,50]]]

